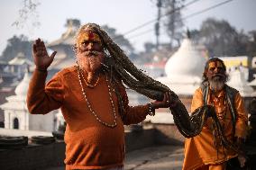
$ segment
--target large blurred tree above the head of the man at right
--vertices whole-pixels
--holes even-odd
[[[210,57],[256,56],[256,31],[236,31],[229,22],[208,18],[199,30],[190,31],[191,39],[203,44]]]

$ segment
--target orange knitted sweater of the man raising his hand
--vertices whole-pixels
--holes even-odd
[[[124,86],[119,86],[123,99],[124,119],[118,113],[114,89],[114,109],[117,126],[106,127],[89,111],[79,85],[75,67],[61,70],[45,85],[47,73],[35,70],[29,85],[27,104],[34,114],[45,114],[61,109],[67,128],[65,131],[66,169],[105,169],[123,166],[124,129],[123,124],[138,123],[149,113],[148,105],[131,107]],[[113,124],[114,115],[108,93],[105,75],[99,77],[94,88],[84,85],[87,99],[100,120]]]

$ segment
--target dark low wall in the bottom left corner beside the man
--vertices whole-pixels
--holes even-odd
[[[44,169],[61,166],[65,157],[65,144],[56,142],[50,145],[30,145],[22,149],[0,150],[1,170]]]

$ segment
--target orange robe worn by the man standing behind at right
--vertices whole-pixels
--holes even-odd
[[[224,90],[216,95],[209,92],[207,104],[215,106],[215,112],[219,121],[222,123],[224,135],[227,139],[232,141],[233,122],[228,104],[224,102]],[[198,88],[193,96],[191,112],[194,112],[202,105],[204,105],[203,92],[201,88]],[[234,136],[245,139],[247,135],[248,115],[244,109],[242,97],[239,93],[235,95],[234,107],[237,112]],[[233,150],[227,150],[222,147],[219,147],[217,152],[215,148],[215,138],[212,132],[212,124],[212,120],[209,118],[199,135],[185,140],[183,170],[197,169],[204,165],[222,164],[224,161],[237,156],[237,153]]]

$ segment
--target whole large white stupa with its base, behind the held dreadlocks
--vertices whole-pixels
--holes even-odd
[[[203,49],[194,44],[189,36],[182,41],[180,48],[167,61],[165,72],[167,76],[157,78],[162,84],[178,94],[180,101],[190,112],[193,94],[202,82],[203,70],[206,64],[206,56]],[[169,109],[159,109],[154,117],[147,117],[146,121],[161,124],[174,124]],[[174,132],[176,133],[176,132]],[[177,133],[178,130],[177,130]]]

